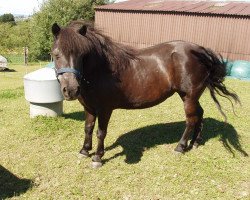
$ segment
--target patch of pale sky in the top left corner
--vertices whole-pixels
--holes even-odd
[[[5,13],[32,15],[43,0],[0,0],[0,15]]]

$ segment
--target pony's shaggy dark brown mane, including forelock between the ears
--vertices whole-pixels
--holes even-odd
[[[78,33],[82,26],[87,27],[84,36]],[[95,28],[92,23],[73,21],[67,27],[61,29],[59,39],[60,48],[66,56],[95,53],[104,59],[104,62],[106,62],[104,66],[112,72],[124,69],[131,64],[131,60],[138,59],[135,49],[113,42],[108,36]]]

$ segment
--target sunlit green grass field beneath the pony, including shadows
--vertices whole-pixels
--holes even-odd
[[[249,199],[250,82],[226,80],[242,102],[235,116],[219,98],[228,124],[204,93],[204,145],[185,155],[173,152],[185,127],[177,95],[150,109],[114,111],[104,165],[92,169],[78,154],[81,105],[64,102],[62,117],[30,119],[22,77],[39,66],[13,68],[0,72],[0,199]]]

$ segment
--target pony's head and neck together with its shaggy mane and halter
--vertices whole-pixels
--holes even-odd
[[[66,100],[78,98],[80,84],[89,84],[99,72],[118,74],[137,59],[134,49],[113,42],[93,24],[82,20],[72,21],[64,28],[55,23],[52,33],[52,55]]]

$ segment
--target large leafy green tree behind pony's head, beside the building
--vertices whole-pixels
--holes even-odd
[[[94,6],[103,5],[106,0],[47,0],[40,12],[32,17],[32,38],[29,52],[33,60],[50,58],[53,36],[51,26],[57,22],[66,25],[72,20],[94,19]]]

